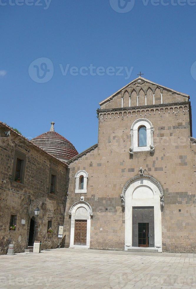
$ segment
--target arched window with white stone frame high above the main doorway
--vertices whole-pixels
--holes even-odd
[[[153,126],[148,119],[137,119],[131,126],[131,147],[129,153],[155,150],[153,144]]]

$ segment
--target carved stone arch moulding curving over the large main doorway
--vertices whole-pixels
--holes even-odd
[[[122,200],[122,206],[125,207],[125,201],[126,201],[126,191],[127,191],[127,187],[136,179],[141,179],[141,178],[149,178],[150,180],[152,180],[153,182],[156,183],[156,185],[158,186],[159,190],[160,190],[160,205],[161,207],[164,207],[164,193],[163,193],[163,189],[161,184],[152,176],[150,175],[143,175],[142,177],[140,175],[136,175],[135,177],[131,178],[130,180],[128,180],[128,182],[124,185],[124,188],[122,190],[122,194],[120,195],[120,198]]]

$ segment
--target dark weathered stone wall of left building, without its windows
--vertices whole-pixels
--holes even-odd
[[[43,249],[56,248],[59,242],[58,226],[63,224],[66,206],[67,165],[15,132],[11,131],[10,136],[5,137],[5,131],[8,130],[4,125],[0,125],[0,254],[7,253],[10,243],[14,244],[15,252],[24,252],[27,248],[30,219],[34,216],[37,203],[40,203],[41,211],[39,216],[35,216],[35,240],[41,240]],[[24,184],[17,183],[13,177],[16,150],[26,155]],[[49,194],[51,168],[57,172],[55,195]],[[30,206],[30,200],[36,202],[32,202]],[[9,231],[11,215],[17,215],[16,231]],[[21,220],[25,220],[25,224],[21,224]],[[52,220],[52,234],[47,233],[48,220]]]

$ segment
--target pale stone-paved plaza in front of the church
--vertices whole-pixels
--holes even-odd
[[[196,254],[51,249],[0,256],[0,288],[196,288]]]

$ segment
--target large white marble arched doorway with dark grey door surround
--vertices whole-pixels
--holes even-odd
[[[124,186],[125,250],[149,247],[162,252],[163,190],[149,175],[137,175]]]

